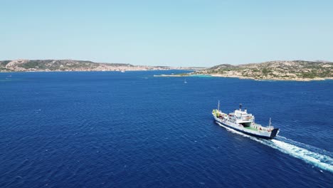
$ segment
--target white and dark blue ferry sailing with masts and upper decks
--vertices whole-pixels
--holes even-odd
[[[254,115],[248,113],[246,109],[242,110],[242,104],[239,105],[238,110],[227,114],[220,110],[220,101],[218,101],[218,109],[214,109],[212,114],[216,122],[254,137],[271,140],[280,132],[278,128],[272,126],[271,122],[267,127],[255,123]]]

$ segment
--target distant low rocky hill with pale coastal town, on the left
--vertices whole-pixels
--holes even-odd
[[[191,69],[167,66],[133,66],[124,63],[94,63],[77,60],[14,60],[0,61],[0,72],[19,71],[149,71]]]

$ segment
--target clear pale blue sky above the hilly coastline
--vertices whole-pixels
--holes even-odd
[[[333,61],[333,1],[0,0],[0,60]]]

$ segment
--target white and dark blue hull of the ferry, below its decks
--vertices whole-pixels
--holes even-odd
[[[236,130],[238,132],[242,132],[246,135],[250,135],[250,136],[253,136],[253,137],[260,137],[260,138],[263,138],[263,139],[272,140],[275,136],[277,136],[277,134],[279,132],[279,129],[277,129],[277,128],[272,130],[272,132],[258,132],[258,131],[253,131],[253,130],[247,130],[244,127],[240,127],[239,125],[236,125],[236,124],[233,125],[232,123],[229,124],[226,121],[218,119],[218,117],[216,117],[215,115],[213,115],[213,117],[214,117],[214,120],[216,122],[219,122],[219,123],[221,123],[222,125],[224,125],[226,127],[229,127],[233,130]]]

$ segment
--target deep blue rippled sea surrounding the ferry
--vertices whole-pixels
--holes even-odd
[[[0,74],[0,187],[332,187],[333,80]],[[242,103],[280,135],[222,127]]]

